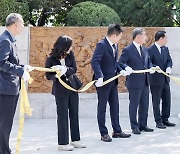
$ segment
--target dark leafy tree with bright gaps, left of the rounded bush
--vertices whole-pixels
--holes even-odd
[[[44,26],[52,22],[54,26],[66,25],[67,14],[73,5],[83,0],[28,0],[29,22],[33,26]]]

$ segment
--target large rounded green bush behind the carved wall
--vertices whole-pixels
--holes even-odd
[[[76,4],[67,16],[68,26],[107,26],[120,23],[118,14],[110,7],[94,2]]]

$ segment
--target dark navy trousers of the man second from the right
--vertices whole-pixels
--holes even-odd
[[[129,88],[128,91],[130,100],[129,117],[131,129],[147,126],[149,108],[149,87],[144,86],[144,88],[142,89]]]

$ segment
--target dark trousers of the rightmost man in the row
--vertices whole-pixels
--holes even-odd
[[[163,86],[150,86],[152,94],[152,104],[154,119],[156,123],[168,120],[171,109],[171,92],[169,83]],[[162,100],[162,110],[160,111],[160,102]]]

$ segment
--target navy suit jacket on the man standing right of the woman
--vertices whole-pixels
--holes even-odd
[[[105,81],[120,72],[121,69],[117,68],[117,57],[118,52],[114,56],[113,49],[107,39],[101,40],[96,46],[91,61],[94,79],[104,78]],[[116,80],[116,84],[118,84],[118,80]]]

